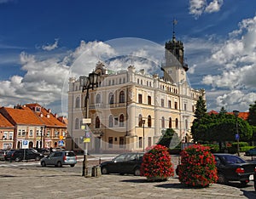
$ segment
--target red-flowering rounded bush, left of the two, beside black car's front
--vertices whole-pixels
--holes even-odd
[[[147,177],[148,181],[166,180],[173,176],[171,156],[168,148],[155,145],[143,156],[141,175]]]

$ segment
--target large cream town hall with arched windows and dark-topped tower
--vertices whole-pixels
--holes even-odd
[[[166,63],[161,74],[148,74],[128,65],[127,70],[108,71],[96,64],[95,89],[82,92],[79,79],[69,79],[68,132],[72,150],[84,149],[83,118],[91,118],[89,151],[143,151],[155,145],[166,128],[173,128],[181,141],[192,140],[190,127],[195,104],[203,90],[190,87],[183,62],[183,43],[175,37],[166,43]]]

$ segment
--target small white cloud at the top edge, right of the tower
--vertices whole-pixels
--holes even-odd
[[[189,0],[189,14],[193,14],[198,18],[203,13],[218,12],[223,5],[223,0],[212,0],[207,3],[207,0]]]

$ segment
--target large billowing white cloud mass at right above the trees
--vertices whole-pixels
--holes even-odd
[[[212,49],[208,63],[209,72],[202,78],[202,83],[223,94],[211,97],[211,109],[222,106],[240,111],[247,111],[256,99],[256,16],[242,20],[238,29],[230,32],[229,38],[219,41]],[[212,72],[215,69],[215,74]],[[196,71],[206,69],[198,64]],[[202,73],[201,73],[202,74]],[[210,75],[211,74],[211,75]],[[211,91],[209,90],[209,93]]]

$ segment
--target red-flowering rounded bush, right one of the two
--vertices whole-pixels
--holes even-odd
[[[178,178],[184,185],[206,187],[218,180],[215,158],[210,148],[191,145],[181,152]]]

